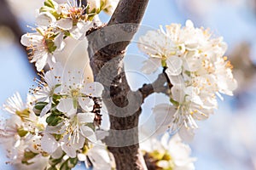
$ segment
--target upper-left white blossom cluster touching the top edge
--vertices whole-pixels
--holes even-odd
[[[101,11],[112,14],[118,2],[90,0],[84,7],[81,0],[67,3],[46,0],[44,6],[37,10],[37,27],[32,28],[35,32],[21,37],[21,43],[30,52],[31,62],[35,62],[37,70],[42,71],[45,65],[52,67],[56,62],[55,55],[60,54],[67,43],[67,37],[85,39],[86,32],[93,26],[94,17]]]

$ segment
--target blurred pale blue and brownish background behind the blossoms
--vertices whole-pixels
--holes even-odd
[[[43,0],[0,0],[0,105],[15,92],[26,99],[35,77],[28,63],[21,34],[34,26],[34,9]],[[102,14],[102,21],[108,16]],[[224,97],[219,109],[195,133],[190,146],[197,158],[197,170],[256,170],[256,0],[149,0],[143,26],[157,29],[160,25],[193,20],[195,26],[210,28],[228,43],[229,56],[238,81],[233,97]],[[139,71],[145,57],[134,44],[125,57],[125,68],[132,89],[153,81],[156,75],[143,76]],[[137,57],[140,56],[140,57]],[[165,102],[160,94],[151,95],[143,105],[141,126],[152,118],[148,112],[156,103]],[[0,111],[1,116],[7,116]],[[145,130],[147,131],[147,129]],[[1,149],[0,170],[13,169],[6,165]],[[79,169],[79,167],[77,167]]]

